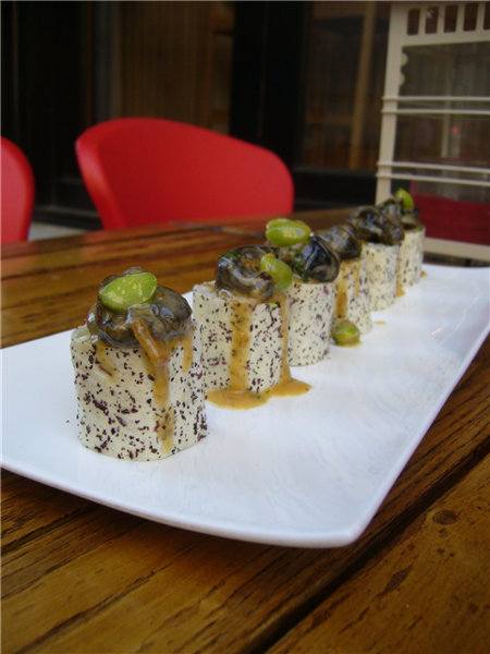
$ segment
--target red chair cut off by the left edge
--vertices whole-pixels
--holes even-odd
[[[30,164],[11,141],[0,136],[0,243],[26,241],[35,184]]]

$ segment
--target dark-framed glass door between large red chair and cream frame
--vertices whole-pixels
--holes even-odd
[[[297,209],[375,202],[389,14],[388,2],[237,0],[231,133],[283,158]]]

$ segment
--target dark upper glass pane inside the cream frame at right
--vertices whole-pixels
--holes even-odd
[[[490,97],[490,43],[406,47],[403,51],[406,63],[400,94],[417,98],[403,108],[418,113],[399,117],[395,160],[444,159],[488,167],[490,102],[475,98]]]

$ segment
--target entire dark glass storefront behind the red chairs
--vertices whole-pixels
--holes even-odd
[[[35,219],[97,229],[74,143],[121,116],[182,120],[275,152],[296,208],[373,202],[385,2],[3,0],[1,133]]]

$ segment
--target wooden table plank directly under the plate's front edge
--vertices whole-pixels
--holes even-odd
[[[96,508],[89,523],[91,549],[87,548],[88,523],[78,521],[74,538],[72,523],[57,524],[11,550],[2,584],[3,654],[145,647],[242,653],[267,646],[380,548],[389,547],[414,518],[488,453],[489,340],[483,348],[485,356],[471,363],[357,543],[331,550],[294,549],[204,536],[147,521],[127,529],[133,518]],[[467,429],[457,432],[454,413],[469,393],[476,393],[476,401],[466,416]],[[78,538],[79,533],[85,535]],[[57,542],[64,545],[54,555]],[[56,561],[54,569],[40,578],[39,553]],[[29,565],[16,569],[15,561]],[[21,615],[29,627],[17,632],[14,625]],[[111,625],[118,625],[118,630]]]

